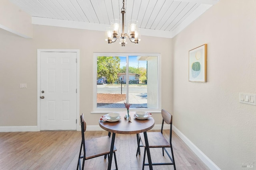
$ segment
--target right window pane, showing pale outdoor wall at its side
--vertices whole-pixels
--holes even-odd
[[[129,56],[131,108],[158,107],[157,56]]]

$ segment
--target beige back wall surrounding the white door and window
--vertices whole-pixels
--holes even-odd
[[[162,76],[169,77],[162,85],[162,107],[172,111],[171,63],[172,39],[142,36],[138,45],[108,44],[104,32],[34,25],[33,39],[25,39],[0,29],[0,127],[37,125],[37,49],[80,50],[80,113],[88,125],[98,125],[101,114],[91,114],[93,91],[93,53],[161,53]],[[156,43],[155,43],[156,42]],[[159,43],[161,42],[161,43]],[[20,83],[28,88],[20,89]],[[156,124],[161,115],[156,113]]]

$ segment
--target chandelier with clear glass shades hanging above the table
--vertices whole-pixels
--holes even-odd
[[[138,30],[138,21],[130,20],[128,21],[128,34],[124,33],[124,0],[123,0],[123,8],[121,8],[122,13],[122,33],[120,32],[120,20],[112,20],[111,27],[106,28],[106,41],[109,44],[116,42],[116,39],[120,38],[120,44],[125,46],[127,44],[126,38],[130,39],[132,43],[138,44],[140,41],[140,31]]]

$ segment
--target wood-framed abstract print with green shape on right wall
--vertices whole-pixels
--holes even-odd
[[[207,44],[189,51],[189,81],[207,82]]]

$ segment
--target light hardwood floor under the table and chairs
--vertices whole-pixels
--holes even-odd
[[[168,131],[164,135],[168,139]],[[85,138],[105,136],[106,131],[86,131]],[[81,144],[80,131],[40,131],[0,133],[0,170],[75,170]],[[173,132],[172,145],[177,170],[209,168]],[[119,170],[141,170],[144,149],[136,157],[136,135],[116,134]],[[152,161],[165,160],[161,149],[150,149]],[[167,159],[166,159],[167,160]],[[147,161],[147,160],[146,160]],[[103,156],[85,161],[86,170],[106,170]],[[114,169],[114,160],[112,169]],[[173,166],[153,166],[154,170],[173,170]],[[145,167],[148,170],[148,166]]]

